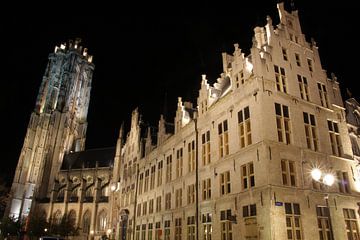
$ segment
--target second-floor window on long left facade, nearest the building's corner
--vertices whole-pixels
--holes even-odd
[[[251,124],[249,107],[238,112],[240,148],[244,148],[252,144],[251,140]]]

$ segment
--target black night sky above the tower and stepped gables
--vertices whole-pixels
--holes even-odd
[[[56,45],[80,37],[94,56],[86,145],[114,146],[121,122],[129,123],[136,106],[145,122],[157,126],[166,102],[172,121],[178,96],[195,103],[202,73],[210,83],[216,81],[221,52],[232,53],[237,42],[248,54],[253,28],[264,26],[266,15],[274,25],[279,22],[276,0],[251,2],[196,7],[140,2],[131,7],[73,7],[59,2],[45,10],[16,8],[2,16],[0,107],[5,134],[0,174],[8,181],[13,177],[48,54]],[[349,88],[359,97],[359,20],[353,5],[295,1],[307,40],[313,37],[319,46],[323,68],[337,75],[343,96]]]

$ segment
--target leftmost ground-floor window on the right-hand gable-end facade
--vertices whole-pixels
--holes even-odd
[[[286,239],[302,239],[300,205],[285,203]]]

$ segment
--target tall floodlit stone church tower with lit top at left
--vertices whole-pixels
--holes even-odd
[[[49,54],[11,187],[11,217],[26,217],[33,200],[46,200],[64,154],[84,150],[94,64],[80,42]]]

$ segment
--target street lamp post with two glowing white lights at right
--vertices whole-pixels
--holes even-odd
[[[313,180],[320,182],[321,184],[325,184],[328,187],[331,187],[335,182],[335,177],[332,173],[323,173],[319,168],[313,168],[311,170],[311,177]],[[331,214],[330,214],[330,205],[329,205],[329,194],[327,193],[324,197],[328,218],[329,218],[329,228],[330,228],[330,240],[334,240],[334,232],[332,228],[331,222]]]

